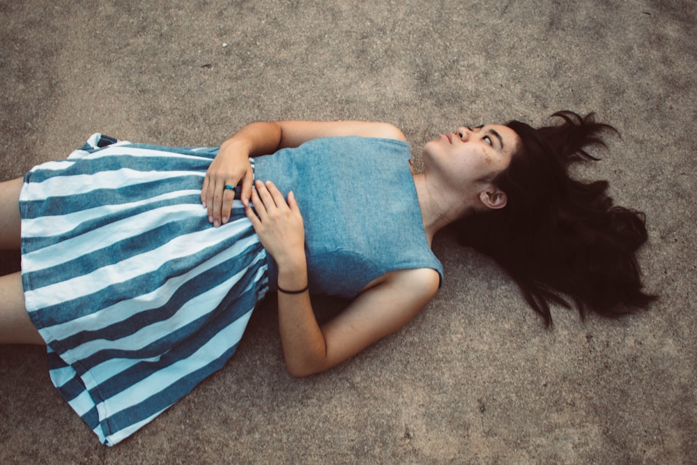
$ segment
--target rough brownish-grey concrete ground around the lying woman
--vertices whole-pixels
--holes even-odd
[[[3,180],[97,131],[217,145],[259,119],[390,121],[418,166],[463,123],[593,111],[622,138],[579,175],[645,211],[661,295],[618,321],[555,307],[545,330],[445,236],[445,286],[397,335],[292,379],[269,302],[227,367],[114,448],[44,349],[0,346],[0,463],[697,462],[694,1],[0,0],[0,19]]]

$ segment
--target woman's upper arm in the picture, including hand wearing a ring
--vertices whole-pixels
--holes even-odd
[[[404,134],[390,123],[365,121],[277,121],[246,125],[220,146],[210,163],[201,203],[208,209],[208,220],[220,226],[228,220],[234,191],[226,185],[241,183],[240,199],[247,206],[252,195],[252,167],[249,158],[274,153],[281,148],[296,147],[311,139],[358,135],[404,140]]]

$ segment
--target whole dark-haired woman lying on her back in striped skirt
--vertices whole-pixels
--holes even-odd
[[[1,185],[22,273],[0,278],[0,342],[47,344],[56,388],[113,445],[220,369],[268,290],[293,376],[394,333],[441,285],[430,246],[449,225],[548,323],[560,294],[582,314],[648,305],[643,218],[566,171],[608,126],[560,116],[441,135],[421,173],[386,123],[253,123],[220,151],[94,135]],[[309,291],[353,300],[319,326]]]

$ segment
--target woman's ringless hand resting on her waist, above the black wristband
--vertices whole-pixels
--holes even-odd
[[[256,214],[247,206],[247,218],[261,244],[280,268],[305,266],[305,226],[293,192],[288,201],[270,181],[254,183],[252,203]]]

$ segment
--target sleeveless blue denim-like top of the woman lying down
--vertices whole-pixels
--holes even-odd
[[[254,158],[254,177],[296,195],[309,289],[353,298],[391,270],[443,266],[431,252],[409,160],[392,139],[325,137]],[[269,284],[277,266],[269,255]]]

